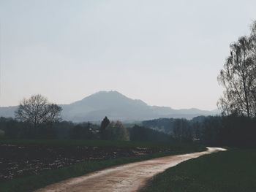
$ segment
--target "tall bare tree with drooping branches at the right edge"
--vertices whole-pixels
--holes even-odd
[[[252,26],[252,34],[256,31]],[[218,81],[224,86],[224,96],[218,101],[226,115],[236,113],[253,117],[256,115],[256,62],[255,37],[240,37],[230,45],[230,55],[221,70]]]

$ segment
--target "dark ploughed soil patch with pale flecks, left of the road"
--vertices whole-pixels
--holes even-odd
[[[45,170],[58,169],[81,161],[99,161],[157,152],[162,152],[162,150],[140,147],[0,145],[0,181],[39,174]]]

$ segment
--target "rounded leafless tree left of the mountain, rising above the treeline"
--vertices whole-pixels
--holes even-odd
[[[61,110],[57,104],[49,103],[48,99],[38,94],[20,101],[15,117],[18,120],[32,123],[34,128],[37,128],[39,124],[61,120]]]

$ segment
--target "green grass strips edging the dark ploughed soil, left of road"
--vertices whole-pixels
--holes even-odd
[[[75,141],[75,140],[5,140],[0,142],[11,145],[54,145],[54,146],[69,146],[69,145],[84,145],[84,146],[118,146],[118,147],[168,147],[168,153],[154,153],[151,155],[143,155],[130,158],[113,158],[104,161],[84,161],[80,164],[66,166],[61,169],[55,169],[42,172],[42,174],[20,177],[14,180],[0,183],[1,192],[28,192],[34,191],[37,188],[42,188],[51,183],[57,183],[61,180],[66,180],[71,177],[78,177],[83,174],[88,174],[100,169],[105,169],[110,166],[128,164],[135,161],[143,161],[151,158],[162,157],[165,155],[174,155],[181,153],[192,153],[195,151],[205,150],[205,147],[200,145],[186,145],[174,143],[157,143],[157,142],[110,142],[110,141]]]

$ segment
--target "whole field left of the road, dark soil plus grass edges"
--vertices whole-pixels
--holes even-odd
[[[204,149],[167,142],[1,140],[0,189],[33,191],[109,166]]]

